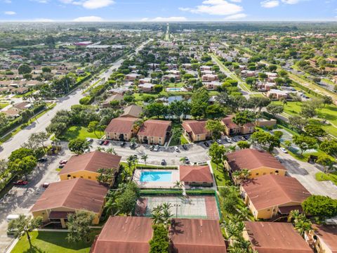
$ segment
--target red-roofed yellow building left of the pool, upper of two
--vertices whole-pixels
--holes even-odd
[[[98,169],[114,169],[117,172],[120,161],[120,156],[100,151],[74,155],[58,175],[61,181],[78,178],[97,181],[97,177],[100,175]],[[114,183],[114,179],[112,179],[112,183]]]

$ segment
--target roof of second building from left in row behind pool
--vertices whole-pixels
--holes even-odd
[[[149,119],[140,126],[138,136],[166,137],[166,132],[171,129],[171,122],[166,120]]]

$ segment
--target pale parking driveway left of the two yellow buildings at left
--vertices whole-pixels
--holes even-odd
[[[38,168],[28,176],[27,186],[14,186],[0,201],[0,252],[11,244],[13,238],[6,234],[8,214],[29,214],[29,210],[44,192],[43,183],[59,181],[58,162],[68,160],[72,154],[63,148],[59,155],[48,157],[48,162],[40,163]]]

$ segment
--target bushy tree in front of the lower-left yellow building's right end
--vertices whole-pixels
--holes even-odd
[[[68,215],[67,235],[68,242],[89,242],[90,241],[90,226],[95,219],[92,212],[84,210],[77,211],[75,214]]]

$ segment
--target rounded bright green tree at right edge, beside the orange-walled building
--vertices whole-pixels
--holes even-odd
[[[302,203],[302,207],[305,214],[320,219],[337,215],[337,200],[327,196],[311,195]]]

